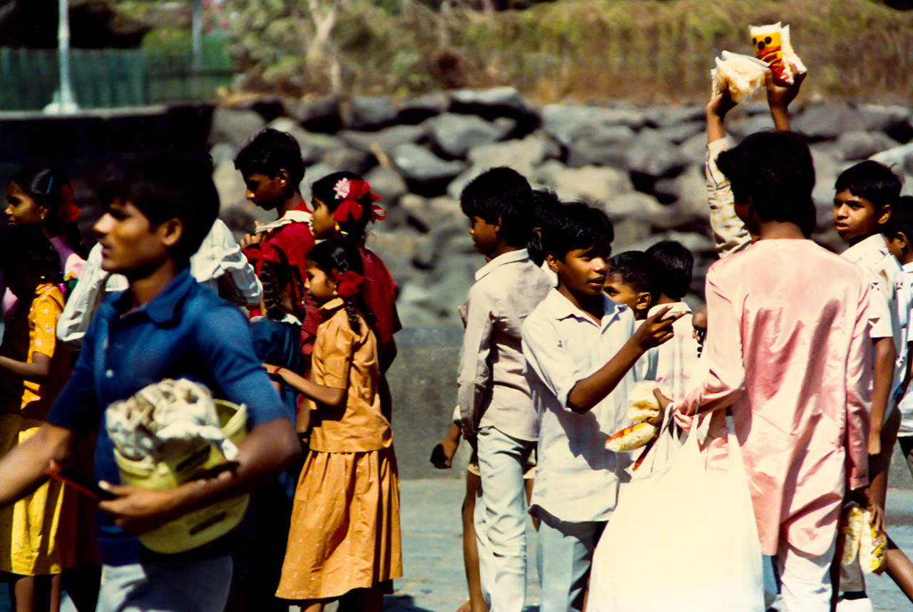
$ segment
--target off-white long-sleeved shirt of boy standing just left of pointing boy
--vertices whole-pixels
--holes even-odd
[[[520,325],[551,290],[526,249],[510,251],[476,272],[461,314],[466,333],[457,375],[457,405],[464,436],[496,427],[512,438],[536,439],[539,418],[520,346]]]

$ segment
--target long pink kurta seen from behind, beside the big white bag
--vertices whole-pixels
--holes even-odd
[[[781,535],[824,554],[846,484],[868,483],[868,290],[809,240],[760,240],[709,269],[709,373],[672,408],[731,407],[764,554]]]

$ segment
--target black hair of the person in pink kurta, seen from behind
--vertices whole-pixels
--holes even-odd
[[[732,195],[748,204],[762,221],[794,223],[806,236],[813,229],[814,165],[812,152],[794,132],[755,132],[719,153],[719,170],[729,178]]]

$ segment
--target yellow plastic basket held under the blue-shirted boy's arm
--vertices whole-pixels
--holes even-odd
[[[247,408],[216,399],[215,410],[226,438],[236,444],[247,436]],[[199,470],[209,470],[226,462],[221,449],[209,443],[167,461],[153,464],[126,459],[116,449],[114,459],[121,471],[123,484],[166,491],[184,484]],[[247,511],[247,494],[226,501],[217,501],[194,512],[166,522],[151,532],[143,533],[140,542],[155,553],[175,554],[192,550],[234,529]]]

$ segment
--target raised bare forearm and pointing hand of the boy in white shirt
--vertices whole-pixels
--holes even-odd
[[[648,349],[665,343],[673,336],[672,323],[684,313],[663,319],[671,306],[647,317],[621,350],[592,375],[577,381],[568,394],[568,407],[578,414],[588,412],[603,401],[624,378],[627,371]]]

